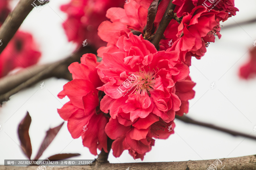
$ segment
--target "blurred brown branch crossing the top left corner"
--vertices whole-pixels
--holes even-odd
[[[2,39],[3,42],[2,46],[0,46],[0,54],[33,9],[31,4],[33,4],[34,1],[35,0],[20,0],[13,11],[7,16],[5,22],[0,28],[0,39]],[[46,2],[47,1],[40,3],[36,1],[36,4],[43,5]]]

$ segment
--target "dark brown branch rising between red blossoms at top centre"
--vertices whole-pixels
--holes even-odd
[[[152,40],[152,44],[154,44],[156,49],[158,49],[158,44],[159,44],[160,40],[163,38],[165,29],[167,28],[168,24],[172,20],[170,18],[167,18],[167,14],[168,14],[169,10],[174,10],[175,6],[176,5],[174,5],[172,3],[172,0],[170,0],[169,4],[164,12],[163,18],[156,30],[156,33],[154,34],[154,39]]]

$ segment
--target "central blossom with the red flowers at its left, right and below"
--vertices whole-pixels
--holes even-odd
[[[82,136],[92,154],[97,147],[105,150],[108,136],[115,140],[114,156],[129,150],[133,158],[143,159],[153,138],[167,139],[174,133],[168,127],[175,127],[175,114],[188,111],[195,83],[176,51],[157,51],[142,35],[127,36],[119,37],[117,52],[104,53],[101,63],[94,54],[85,54],[80,64],[69,66],[73,80],[58,96],[67,95],[70,101],[58,112],[68,121],[72,137]],[[100,105],[98,97],[103,97]],[[83,132],[85,125],[88,131]]]

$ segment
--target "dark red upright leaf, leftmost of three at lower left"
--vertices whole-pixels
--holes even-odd
[[[27,112],[26,116],[18,126],[18,136],[20,139],[22,151],[29,159],[31,158],[31,154],[32,154],[32,146],[31,146],[31,141],[28,133],[30,124],[31,124],[31,117]]]

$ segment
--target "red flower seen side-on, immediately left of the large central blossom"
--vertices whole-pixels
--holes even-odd
[[[69,66],[73,80],[65,84],[63,91],[58,94],[61,99],[66,95],[70,99],[58,109],[58,113],[61,118],[68,121],[67,126],[71,136],[73,138],[82,136],[83,145],[94,155],[97,155],[97,148],[103,148],[108,152],[104,128],[109,118],[98,109],[99,91],[96,88],[102,86],[97,75],[98,64],[94,54],[84,54],[81,64],[75,62]]]

